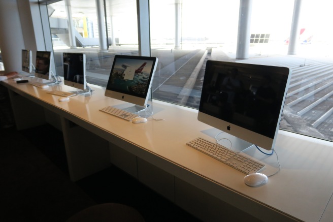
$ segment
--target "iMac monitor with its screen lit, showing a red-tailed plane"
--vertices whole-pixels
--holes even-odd
[[[158,58],[115,55],[105,96],[141,106],[147,105]]]

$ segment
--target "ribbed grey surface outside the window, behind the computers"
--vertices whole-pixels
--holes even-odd
[[[80,51],[82,49],[75,49]],[[61,50],[63,52],[64,50]],[[72,49],[71,49],[72,51]],[[163,100],[172,102],[175,104],[189,106],[193,108],[198,108],[199,100],[201,97],[202,82],[205,73],[205,65],[208,59],[211,60],[223,60],[223,61],[238,61],[238,62],[248,62],[261,65],[270,65],[270,66],[286,66],[293,70],[292,78],[295,76],[295,82],[306,81],[308,75],[318,75],[318,78],[322,78],[320,67],[325,66],[328,70],[333,70],[331,64],[333,60],[326,58],[322,59],[307,59],[301,56],[292,56],[292,55],[261,55],[251,54],[249,59],[236,59],[235,54],[232,54],[223,47],[215,48],[203,48],[203,49],[166,49],[166,48],[154,48],[151,51],[151,56],[156,56],[159,58],[158,66],[156,69],[152,90],[153,98],[157,100]],[[87,56],[87,82],[97,85],[106,86],[108,78],[110,75],[110,70],[112,66],[113,56],[115,54],[128,54],[128,55],[138,55],[138,49],[130,46],[119,46],[119,47],[110,47],[109,52],[98,52],[98,49],[84,49],[84,52]],[[55,52],[55,57],[58,57]],[[312,71],[307,73],[307,69],[312,68]],[[331,75],[330,71],[328,76]],[[325,77],[326,81],[331,81],[329,77]],[[318,80],[318,81],[319,81]],[[309,80],[310,82],[313,80]],[[293,83],[294,85],[297,83]],[[305,84],[305,83],[299,83]],[[304,86],[306,87],[306,86]],[[312,87],[312,90],[316,89],[315,86]],[[319,86],[318,86],[319,87]],[[294,90],[289,88],[289,91]],[[307,89],[299,93],[305,93]],[[331,90],[332,89],[327,89]],[[294,97],[287,98],[288,103],[291,103]],[[314,102],[316,98],[312,98]],[[332,98],[333,99],[333,98]],[[329,99],[330,100],[330,99]],[[292,103],[291,103],[292,104]],[[333,133],[330,128],[330,125],[322,126],[319,124],[318,127],[314,127],[312,124],[317,119],[321,118],[320,116],[309,116],[309,115],[298,115],[296,109],[303,106],[303,104],[297,104],[297,106],[285,106],[283,118],[281,121],[281,128],[285,130],[290,130],[297,133],[302,133],[326,140],[333,139]],[[304,105],[305,106],[305,105]],[[323,110],[320,110],[320,104],[316,106],[316,112],[325,114],[324,107]],[[318,111],[319,109],[319,111]],[[296,110],[296,111],[295,111]],[[313,111],[308,111],[311,113]],[[333,116],[330,115],[327,117],[327,121],[333,121]],[[330,120],[332,119],[332,120]],[[325,123],[323,123],[325,124]],[[297,125],[302,125],[302,127],[297,127]]]

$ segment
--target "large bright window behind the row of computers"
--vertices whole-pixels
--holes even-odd
[[[66,0],[48,8],[56,60],[61,61],[58,53],[64,51],[83,51],[88,83],[105,86],[114,54],[139,54],[137,1],[107,0],[103,9],[95,2]],[[302,1],[298,26],[292,26],[294,3],[252,1],[248,58],[241,59],[240,1],[150,0],[151,55],[159,58],[153,98],[197,108],[207,59],[285,66],[292,70],[292,79],[281,128],[333,140],[330,1]],[[102,34],[100,13],[105,15]],[[73,24],[75,34],[68,24]],[[289,37],[293,32],[295,45]],[[75,35],[76,45],[71,45],[70,35]],[[107,40],[106,50],[101,35]],[[295,53],[288,53],[291,45]],[[60,66],[57,73],[61,72]]]

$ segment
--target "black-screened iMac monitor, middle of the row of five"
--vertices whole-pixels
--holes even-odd
[[[86,55],[63,53],[63,83],[78,89],[86,89]]]

